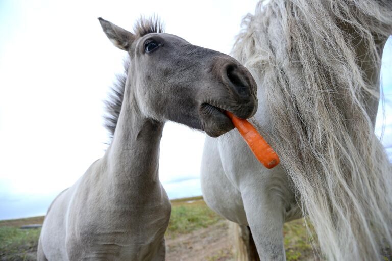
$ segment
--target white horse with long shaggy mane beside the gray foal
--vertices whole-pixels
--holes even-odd
[[[240,225],[245,259],[284,260],[283,223],[303,215],[328,260],[381,259],[392,175],[374,125],[392,1],[271,0],[243,24],[233,55],[256,79],[252,120],[281,163],[264,168],[237,132],[207,137],[205,201]]]

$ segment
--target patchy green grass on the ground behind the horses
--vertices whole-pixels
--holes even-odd
[[[176,238],[194,230],[205,228],[223,220],[203,201],[192,197],[171,200],[172,212],[166,237]],[[20,229],[21,225],[42,223],[44,217],[0,221],[0,260],[33,261],[41,229]],[[284,225],[284,244],[288,261],[308,260],[313,257],[313,250],[307,240],[304,220],[291,221]],[[211,261],[227,260],[233,255],[231,250],[223,249],[210,258]]]

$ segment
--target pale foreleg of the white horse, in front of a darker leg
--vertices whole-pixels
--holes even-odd
[[[285,260],[283,210],[270,190],[248,186],[242,199],[253,240],[261,260]]]

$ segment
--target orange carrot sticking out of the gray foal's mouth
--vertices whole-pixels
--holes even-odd
[[[274,149],[269,146],[251,123],[245,119],[237,118],[231,112],[225,111],[225,113],[247,142],[253,154],[266,168],[271,169],[279,164],[279,157]]]

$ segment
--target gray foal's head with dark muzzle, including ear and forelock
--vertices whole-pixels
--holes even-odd
[[[192,45],[141,20],[135,33],[99,18],[106,36],[130,56],[126,93],[143,115],[185,124],[217,137],[234,128],[224,114],[252,117],[256,82],[234,58]]]

